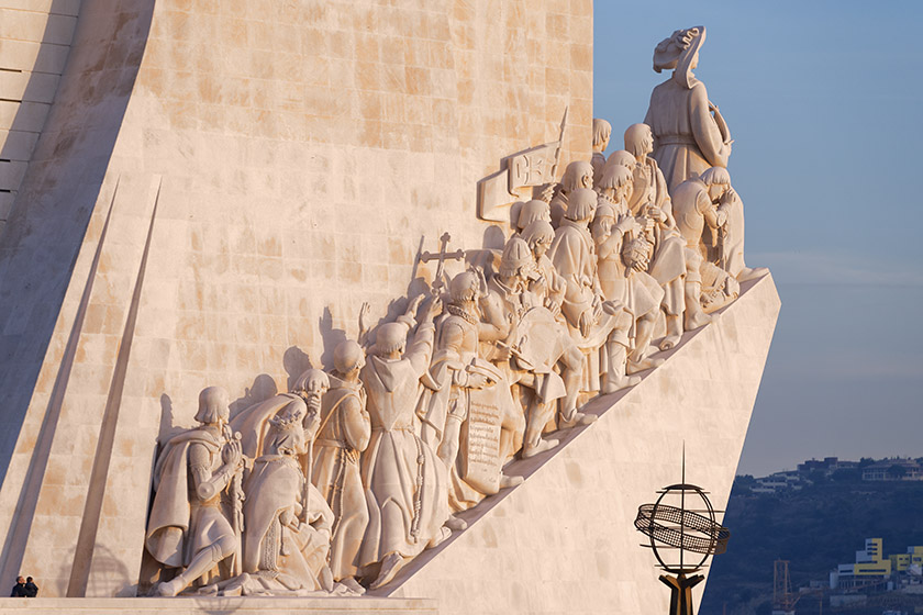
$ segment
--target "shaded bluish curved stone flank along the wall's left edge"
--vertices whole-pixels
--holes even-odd
[[[141,66],[154,3],[138,3],[132,11],[103,9],[91,1],[81,7],[55,102],[0,242],[0,387],[7,392],[8,426],[0,434],[0,480],[19,489],[2,550],[3,579],[14,578],[22,563],[70,377],[67,357],[25,476],[7,484],[7,470],[91,215],[98,204],[109,204],[100,201],[102,181]],[[107,62],[109,54],[119,62]],[[79,337],[80,332],[70,335]]]

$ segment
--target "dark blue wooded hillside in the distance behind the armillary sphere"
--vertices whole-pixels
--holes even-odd
[[[731,540],[713,561],[701,615],[720,615],[724,607],[729,615],[769,615],[777,559],[790,561],[797,591],[811,581],[826,586],[830,572],[853,562],[866,538],[883,538],[886,555],[923,545],[923,482],[863,482],[846,471],[811,479],[799,491],[754,495],[752,480],[738,477],[724,517]],[[805,597],[798,611],[816,613],[818,600]]]

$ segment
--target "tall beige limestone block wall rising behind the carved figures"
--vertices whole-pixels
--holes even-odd
[[[590,0],[85,0],[0,239],[3,578],[131,594],[198,391],[282,390],[421,245],[497,245],[477,180],[566,105],[588,159],[591,100]]]

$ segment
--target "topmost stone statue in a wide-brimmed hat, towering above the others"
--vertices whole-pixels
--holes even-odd
[[[654,51],[654,70],[674,74],[654,88],[644,123],[654,132],[654,158],[670,193],[709,167],[726,167],[731,156],[727,124],[692,75],[704,40],[704,26],[677,30]]]

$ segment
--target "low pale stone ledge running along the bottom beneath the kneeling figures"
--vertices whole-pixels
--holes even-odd
[[[351,615],[435,615],[431,599],[380,597],[37,597],[0,599],[0,613],[9,615],[292,615],[319,613]]]

